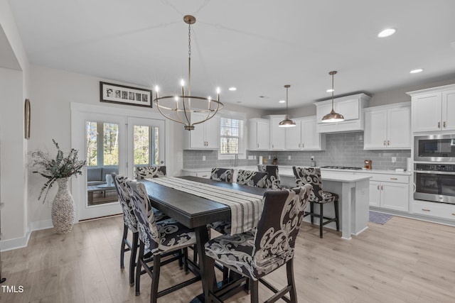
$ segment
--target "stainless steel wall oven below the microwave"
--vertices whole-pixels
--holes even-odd
[[[455,165],[414,164],[414,199],[455,204]]]

